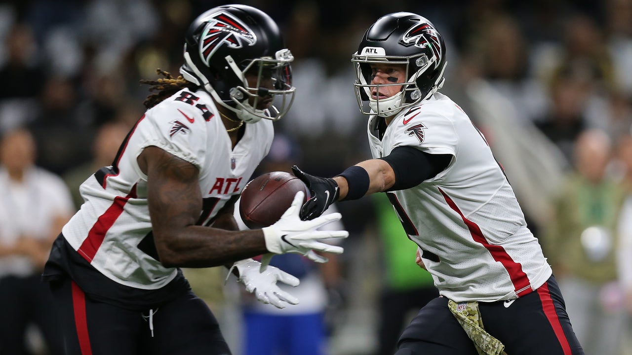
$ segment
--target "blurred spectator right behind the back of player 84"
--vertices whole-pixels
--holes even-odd
[[[86,178],[94,179],[92,174],[104,166],[112,165],[119,147],[129,131],[129,127],[123,123],[106,123],[99,128],[92,143],[92,160],[74,167],[64,174],[63,178],[70,193],[73,203],[78,210],[83,204],[83,198],[79,193],[79,186]]]

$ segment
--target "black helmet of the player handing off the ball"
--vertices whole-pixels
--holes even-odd
[[[388,117],[404,107],[425,100],[443,86],[446,69],[446,45],[443,37],[426,18],[414,13],[398,12],[380,17],[362,37],[351,61],[356,68],[353,84],[360,111]],[[388,99],[374,99],[370,85],[370,64],[406,65],[406,82],[379,86],[402,85],[398,94]],[[363,102],[369,102],[365,109]]]

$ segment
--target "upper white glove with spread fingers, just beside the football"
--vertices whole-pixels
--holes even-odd
[[[265,227],[265,247],[270,253],[298,253],[307,256],[310,260],[318,263],[327,262],[327,258],[320,256],[314,251],[324,251],[327,253],[342,254],[341,246],[322,243],[320,239],[341,239],[347,238],[347,231],[316,231],[329,222],[341,219],[339,213],[327,214],[312,220],[301,220],[298,216],[303,202],[303,191],[299,191],[294,196],[292,205],[286,210],[275,224]]]

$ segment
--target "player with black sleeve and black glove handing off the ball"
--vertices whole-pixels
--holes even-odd
[[[374,159],[334,178],[293,169],[312,194],[301,218],[386,192],[418,244],[441,296],[404,330],[396,354],[583,354],[501,166],[465,112],[437,92],[446,46],[434,25],[413,13],[382,16],[352,62]]]

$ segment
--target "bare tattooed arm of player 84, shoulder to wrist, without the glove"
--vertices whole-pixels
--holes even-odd
[[[158,147],[138,157],[147,175],[154,244],[166,267],[214,267],[266,253],[263,232],[196,226],[202,211],[195,165]],[[223,226],[222,226],[223,227]]]

